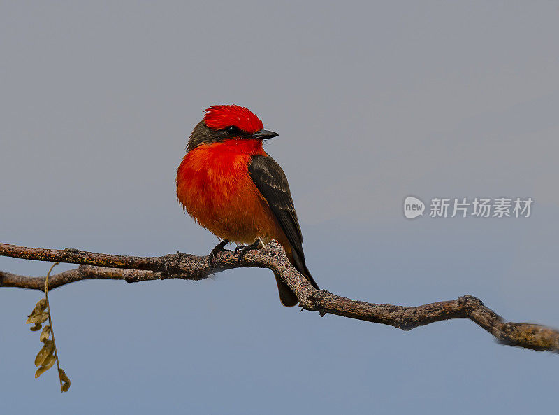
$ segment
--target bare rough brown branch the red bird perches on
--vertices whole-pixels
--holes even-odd
[[[468,318],[490,332],[502,344],[537,351],[559,352],[558,330],[537,324],[506,322],[494,311],[485,307],[481,300],[471,295],[464,295],[456,300],[407,307],[351,300],[329,293],[327,290],[315,290],[305,277],[291,266],[282,246],[275,241],[263,249],[248,251],[242,258],[235,251],[221,251],[213,258],[212,269],[210,269],[208,256],[201,257],[180,252],[161,257],[134,257],[92,253],[78,249],[25,248],[0,244],[0,256],[80,264],[77,269],[50,276],[48,284],[50,289],[85,279],[116,279],[129,283],[166,278],[200,280],[214,272],[222,272],[226,269],[268,268],[279,274],[296,293],[300,307],[319,311],[321,315],[337,314],[392,325],[402,330],[411,330],[435,321]],[[0,271],[0,287],[43,290],[44,286],[43,277],[20,276]]]

